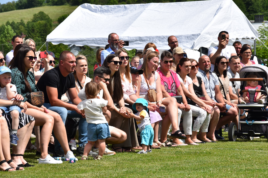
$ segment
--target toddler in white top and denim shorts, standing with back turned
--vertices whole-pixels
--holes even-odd
[[[107,111],[108,101],[97,97],[99,92],[98,84],[87,83],[85,86],[87,99],[77,105],[77,108],[85,114],[88,123],[88,143],[85,145],[82,160],[88,158],[88,154],[97,140],[99,142],[99,153],[92,155],[92,157],[95,160],[102,159],[106,147],[105,139],[111,137],[108,122],[102,114]]]

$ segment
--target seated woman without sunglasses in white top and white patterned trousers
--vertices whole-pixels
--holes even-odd
[[[179,61],[179,64],[177,65],[176,72],[178,74],[178,78],[180,80],[180,84],[182,85],[183,92],[186,97],[188,97],[190,100],[188,102],[190,103],[192,115],[194,117],[197,117],[193,124],[192,134],[191,133],[185,133],[186,137],[190,137],[191,140],[197,144],[199,143],[205,143],[205,142],[212,142],[206,137],[206,133],[208,130],[208,125],[210,121],[210,116],[213,111],[213,108],[209,108],[200,98],[197,97],[193,90],[193,82],[192,79],[187,76],[187,74],[191,71],[191,62],[189,58],[182,58]],[[197,106],[196,106],[197,105]],[[202,135],[202,141],[200,141],[197,138],[197,133],[199,132],[199,129],[201,128],[201,135]],[[188,144],[187,140],[185,140],[185,143]]]

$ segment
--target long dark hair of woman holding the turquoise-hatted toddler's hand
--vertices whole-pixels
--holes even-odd
[[[103,61],[102,66],[109,68],[108,63],[111,62],[113,58],[118,58],[119,56],[117,54],[109,54],[106,59]],[[112,97],[112,99],[116,102],[119,102],[120,99],[123,97],[123,88],[122,88],[122,81],[120,76],[120,67],[118,68],[118,71],[116,71],[113,75],[113,83],[114,87],[112,87],[111,83],[107,85],[108,91]]]

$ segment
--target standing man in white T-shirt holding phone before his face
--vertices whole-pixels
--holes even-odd
[[[231,56],[236,56],[236,50],[234,46],[227,46],[229,43],[229,33],[221,31],[218,36],[219,45],[211,47],[208,50],[208,57],[211,61],[211,71],[214,71],[215,60],[219,56],[224,56],[227,61]]]

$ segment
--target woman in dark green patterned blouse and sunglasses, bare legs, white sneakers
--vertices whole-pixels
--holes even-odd
[[[35,57],[34,50],[29,46],[16,46],[17,50],[16,56],[14,56],[13,63],[11,64],[11,83],[16,85],[17,92],[24,96],[22,102],[27,104],[26,114],[29,114],[35,118],[35,125],[42,125],[43,128],[40,132],[40,145],[41,145],[41,155],[39,163],[62,163],[62,161],[53,160],[53,158],[48,154],[48,143],[54,130],[54,134],[60,142],[66,156],[74,158],[73,153],[69,149],[66,129],[62,122],[61,116],[56,112],[48,110],[46,107],[33,106],[27,102],[25,97],[26,93],[37,91],[37,87],[34,81],[34,74],[29,71],[30,68],[34,66],[34,62],[37,59]],[[15,50],[16,50],[15,48]],[[67,153],[68,152],[68,153]],[[70,153],[71,152],[71,153]],[[23,156],[23,155],[13,155],[13,156]]]

